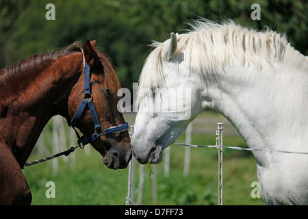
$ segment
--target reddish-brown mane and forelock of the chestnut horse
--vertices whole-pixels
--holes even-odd
[[[61,55],[64,56],[77,52],[81,53],[81,51],[82,44],[81,42],[76,41],[73,44],[70,44],[68,47],[64,47],[62,49],[54,49],[53,51],[31,55],[24,60],[14,62],[11,66],[0,69],[0,84],[5,84],[6,81],[13,81],[14,79],[18,79],[18,77],[25,75],[27,72],[39,72],[43,68],[46,68],[55,62],[56,58],[60,57]],[[103,65],[103,83],[105,86],[110,88],[112,93],[116,94],[116,92],[120,89],[120,82],[118,81],[118,77],[116,77],[114,68],[110,63],[110,60],[101,51],[97,49],[95,49],[95,51],[97,52],[99,60]]]

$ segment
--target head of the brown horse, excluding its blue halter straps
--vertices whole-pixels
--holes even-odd
[[[114,73],[112,64],[103,53],[95,49],[95,41],[84,43],[84,58],[90,66],[90,89],[94,107],[97,111],[101,130],[94,129],[92,114],[86,106],[76,127],[86,138],[96,131],[99,138],[91,142],[94,149],[103,156],[103,162],[108,168],[126,168],[131,159],[131,145],[128,131],[103,135],[103,129],[123,125],[123,115],[117,110],[117,92],[120,89],[118,77]],[[68,97],[68,114],[70,119],[84,99],[85,79],[81,73],[77,83],[73,86]]]

